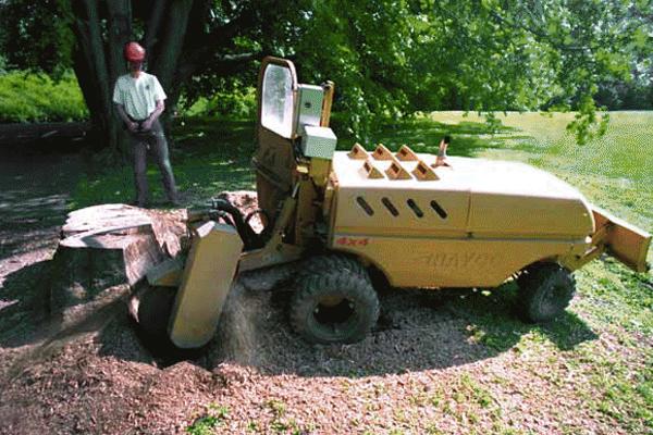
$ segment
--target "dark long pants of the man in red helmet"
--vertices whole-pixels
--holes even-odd
[[[174,175],[172,174],[172,165],[168,156],[168,141],[161,123],[155,121],[152,128],[148,132],[131,133],[132,145],[134,148],[134,178],[136,181],[136,202],[138,206],[146,206],[149,200],[149,191],[147,186],[147,150],[153,152],[161,176],[163,178],[163,187],[165,196],[172,202],[177,200],[176,186],[174,184]]]

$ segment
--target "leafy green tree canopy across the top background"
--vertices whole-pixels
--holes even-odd
[[[611,89],[653,96],[651,11],[653,0],[4,0],[0,44],[10,65],[73,66],[90,88],[121,70],[101,78],[79,54],[95,20],[93,47],[108,59],[119,41],[145,41],[172,103],[182,91],[193,101],[242,90],[275,54],[295,61],[301,82],[334,80],[335,110],[359,136],[379,116],[416,110],[551,109],[579,111],[570,128],[582,142],[604,128],[596,101]],[[106,98],[91,94],[87,103]]]

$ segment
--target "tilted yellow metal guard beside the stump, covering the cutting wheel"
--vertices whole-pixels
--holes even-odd
[[[197,348],[211,339],[242,250],[230,225],[209,221],[196,228],[169,324],[175,346]]]

